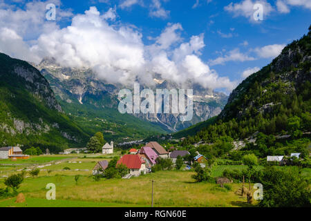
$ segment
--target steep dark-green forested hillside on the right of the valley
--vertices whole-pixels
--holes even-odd
[[[228,140],[252,140],[265,146],[258,155],[282,154],[272,151],[282,146],[306,146],[311,131],[311,32],[286,46],[257,73],[247,77],[229,96],[224,110],[214,124],[198,128],[183,145],[205,144]],[[208,123],[208,122],[207,122]],[[207,124],[206,123],[206,124]],[[196,126],[192,128],[196,130]],[[282,137],[285,140],[276,140]],[[269,143],[270,144],[267,144]],[[291,142],[298,142],[292,144]],[[247,143],[247,142],[245,142]],[[279,143],[279,144],[276,144]],[[250,147],[246,146],[245,150]],[[279,145],[279,146],[275,146]],[[291,151],[299,151],[291,149]],[[261,153],[261,154],[259,154]]]

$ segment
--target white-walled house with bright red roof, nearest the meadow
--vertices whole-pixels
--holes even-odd
[[[146,173],[146,163],[139,155],[123,155],[117,161],[117,165],[119,164],[124,164],[130,170],[130,175],[139,176],[141,173]]]

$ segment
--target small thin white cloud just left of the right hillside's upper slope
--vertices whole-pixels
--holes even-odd
[[[217,64],[225,64],[227,61],[254,61],[254,57],[249,57],[249,55],[245,55],[240,52],[238,48],[234,50],[230,50],[227,55],[217,57],[214,60],[210,60],[209,64],[211,66],[217,65]]]

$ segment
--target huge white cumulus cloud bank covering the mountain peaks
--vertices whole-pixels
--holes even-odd
[[[205,47],[203,34],[185,41],[181,24],[168,23],[150,45],[144,45],[139,30],[114,21],[116,18],[115,8],[101,14],[91,7],[73,16],[70,26],[59,28],[54,24],[31,42],[12,28],[3,27],[0,50],[28,61],[54,57],[65,67],[93,68],[101,79],[126,86],[133,86],[134,81],[152,84],[154,74],[179,86],[189,81],[212,89],[232,90],[236,86],[227,77],[218,77],[200,59],[200,50]]]

